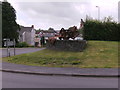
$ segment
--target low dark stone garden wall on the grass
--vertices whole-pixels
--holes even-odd
[[[83,51],[87,42],[85,40],[56,40],[54,44],[47,42],[47,49],[59,51]]]

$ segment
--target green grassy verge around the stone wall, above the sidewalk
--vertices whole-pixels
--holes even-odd
[[[118,68],[118,42],[88,41],[83,52],[42,50],[3,58],[4,62],[47,67]]]

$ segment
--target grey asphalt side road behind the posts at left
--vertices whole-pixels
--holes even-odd
[[[23,53],[36,52],[42,49],[44,48],[16,48],[15,53],[16,55],[19,55]],[[3,48],[2,50],[0,50],[0,52],[1,51],[2,51],[2,57],[7,57],[7,49]],[[14,55],[14,48],[10,48],[10,56],[13,56],[13,55]]]

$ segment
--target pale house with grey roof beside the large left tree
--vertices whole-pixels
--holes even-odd
[[[18,32],[19,32],[19,42],[26,42],[27,44],[32,45],[32,46],[35,45],[34,25],[32,25],[31,27],[21,26],[20,31],[18,31]]]

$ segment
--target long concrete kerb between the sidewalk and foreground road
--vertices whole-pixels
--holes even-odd
[[[31,75],[47,75],[47,76],[72,76],[72,77],[108,77],[108,78],[118,78],[120,75],[84,75],[84,74],[70,74],[70,73],[45,73],[45,72],[32,72],[32,71],[22,71],[22,70],[10,70],[10,69],[0,69],[2,72],[10,73],[21,73],[21,74],[31,74]]]

